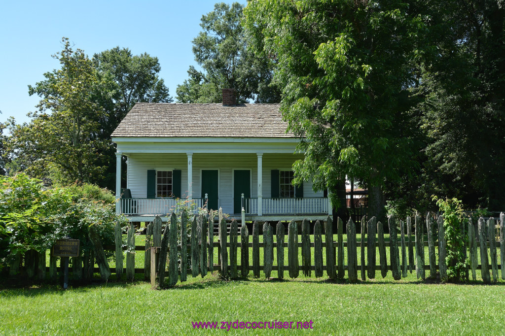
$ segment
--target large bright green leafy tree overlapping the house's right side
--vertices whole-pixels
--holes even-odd
[[[256,52],[277,62],[281,110],[305,137],[297,179],[317,189],[349,179],[368,186],[371,215],[384,217],[384,185],[411,172],[426,19],[405,1],[251,0],[245,23]],[[264,47],[263,47],[264,45]],[[336,203],[335,193],[332,193]]]

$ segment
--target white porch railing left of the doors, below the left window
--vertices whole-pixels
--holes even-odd
[[[192,199],[196,208],[205,204],[203,198]],[[184,199],[186,202],[190,200]],[[163,215],[176,210],[177,200],[174,198],[121,198],[120,211],[125,215]],[[195,211],[196,212],[196,211]]]

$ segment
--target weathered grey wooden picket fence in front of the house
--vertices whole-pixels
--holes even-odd
[[[301,223],[301,242],[298,242],[298,226],[294,221],[289,222],[287,230],[287,242],[285,241],[284,225],[279,222],[276,226],[276,242],[273,240],[273,227],[270,223],[261,224],[254,222],[252,226],[252,242],[249,242],[249,233],[245,223],[241,226],[240,243],[237,243],[238,223],[232,220],[230,232],[227,231],[227,223],[220,214],[218,221],[219,241],[214,242],[212,235],[213,220],[209,221],[208,216],[199,215],[193,217],[190,223],[181,216],[181,230],[177,231],[177,217],[172,214],[169,222],[165,226],[162,238],[162,221],[156,217],[154,222],[147,226],[145,265],[143,272],[145,277],[150,277],[151,286],[160,288],[174,286],[180,276],[180,281],[186,281],[187,272],[192,276],[202,277],[209,271],[217,270],[221,275],[236,279],[239,276],[246,277],[252,270],[254,277],[260,277],[260,271],[263,271],[265,277],[270,278],[272,271],[277,271],[278,278],[284,278],[284,272],[291,278],[296,278],[300,270],[306,276],[311,276],[312,271],[316,277],[322,277],[324,271],[330,279],[343,279],[344,272],[347,270],[349,282],[358,280],[358,270],[361,273],[361,279],[375,278],[375,271],[381,270],[382,277],[385,277],[390,270],[395,280],[401,277],[407,277],[407,272],[416,270],[417,278],[425,279],[426,270],[429,270],[429,278],[434,279],[437,276],[440,279],[447,278],[447,265],[445,256],[447,255],[447,244],[444,239],[443,219],[441,216],[435,218],[431,214],[426,216],[426,223],[423,225],[419,215],[407,217],[406,221],[399,220],[398,226],[394,216],[388,217],[389,242],[384,239],[384,229],[382,223],[376,221],[375,217],[361,222],[361,241],[356,239],[356,224],[349,219],[346,223],[347,242],[343,242],[343,222],[337,218],[337,241],[333,241],[333,223],[331,217],[328,217],[325,223],[316,221],[313,227],[314,242],[311,242],[310,222],[304,220]],[[436,219],[436,220],[435,220]],[[489,218],[485,221],[482,217],[477,225],[469,221],[468,227],[462,228],[468,232],[469,247],[469,268],[472,279],[476,279],[476,270],[480,268],[483,282],[496,282],[498,277],[498,264],[496,256],[496,246],[500,246],[501,257],[501,278],[505,279],[505,236],[503,230],[503,213],[499,221],[499,241],[495,241],[495,220]],[[209,223],[211,228],[209,230]],[[190,242],[186,242],[186,228],[191,226]],[[411,239],[414,225],[414,241]],[[260,226],[263,228],[263,242],[260,243]],[[399,234],[397,232],[399,227]],[[133,232],[133,227],[129,232]],[[424,242],[424,235],[428,236],[428,241]],[[325,242],[323,243],[323,231]],[[438,235],[435,232],[438,231]],[[211,232],[209,235],[208,233]],[[376,241],[377,234],[377,241]],[[477,239],[478,238],[478,239]],[[489,239],[488,239],[489,238]],[[177,240],[179,239],[179,243]],[[126,272],[127,278],[133,279],[135,273],[134,262],[131,255],[134,253],[134,241],[128,240],[129,247],[127,252]],[[479,248],[478,248],[479,244]],[[416,254],[414,255],[414,245]],[[376,246],[378,246],[379,263],[377,264]],[[425,263],[425,246],[428,247],[428,264]],[[491,256],[491,263],[488,261],[488,246]],[[217,247],[218,263],[214,264],[214,248]],[[386,247],[389,247],[389,261],[387,264]],[[240,248],[240,258],[237,249]],[[249,250],[252,248],[252,265],[249,263]],[[287,248],[288,263],[284,264],[284,252]],[[398,250],[400,248],[400,250]],[[263,264],[260,260],[260,250],[263,249]],[[347,255],[346,263],[344,261]],[[361,249],[361,263],[358,264],[357,250]],[[438,264],[436,263],[436,250],[438,249]],[[480,249],[481,263],[478,264],[477,256]],[[274,250],[277,256],[277,265],[273,264]],[[301,265],[299,256],[301,250]],[[462,247],[467,255],[467,246]],[[178,256],[180,251],[180,259]],[[189,252],[187,252],[189,251]],[[323,258],[323,251],[326,258]],[[365,252],[367,251],[367,252]],[[186,252],[191,256],[191,263],[188,266]],[[122,253],[122,252],[121,252]],[[168,255],[168,257],[167,257]],[[401,256],[401,258],[400,258]],[[130,258],[130,259],[129,259]],[[240,263],[238,262],[240,259]],[[365,260],[367,259],[367,260]],[[180,262],[179,262],[180,260]],[[415,260],[415,262],[414,262]],[[312,263],[314,261],[314,263]],[[326,261],[326,262],[324,262]],[[168,281],[165,281],[168,262]],[[189,267],[189,268],[188,268]],[[240,271],[240,274],[239,274]],[[121,275],[122,268],[118,268],[117,274]],[[438,273],[438,275],[437,275]],[[467,273],[468,274],[468,273]],[[468,276],[467,276],[468,277]],[[158,281],[157,281],[158,278]]]

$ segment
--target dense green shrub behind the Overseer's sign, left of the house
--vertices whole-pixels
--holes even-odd
[[[40,180],[22,173],[0,176],[0,268],[16,254],[43,252],[65,237],[79,239],[84,254],[91,248],[91,225],[104,245],[114,245],[115,223],[119,220],[125,226],[126,218],[115,214],[107,191],[96,188],[45,188]]]

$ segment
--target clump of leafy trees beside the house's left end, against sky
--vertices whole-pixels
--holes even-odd
[[[171,102],[156,57],[113,48],[89,59],[67,38],[61,69],[29,86],[41,97],[29,124],[10,121],[9,150],[19,170],[39,179],[115,185],[110,136],[136,102]],[[124,165],[123,165],[124,166]]]

